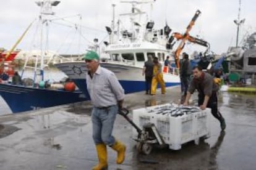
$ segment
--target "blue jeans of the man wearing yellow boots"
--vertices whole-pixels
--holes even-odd
[[[95,144],[106,144],[112,146],[115,142],[112,136],[114,121],[118,106],[108,108],[96,108],[92,110],[93,140]]]

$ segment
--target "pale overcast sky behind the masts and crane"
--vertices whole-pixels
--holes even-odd
[[[92,41],[93,38],[99,38],[100,41],[104,37],[106,38],[105,26],[111,25],[113,14],[111,4],[113,2],[117,4],[116,17],[120,12],[129,12],[130,6],[128,4],[119,4],[119,1],[113,0],[62,0],[58,6],[54,7],[54,11],[59,17],[82,15],[83,40],[86,40],[88,45],[88,41]],[[198,35],[208,41],[211,45],[211,51],[217,54],[222,54],[227,51],[229,46],[236,45],[237,26],[233,21],[237,19],[239,0],[156,0],[152,14],[155,28],[162,28],[167,20],[173,31],[184,33],[197,9],[202,14],[197,18],[190,35]],[[242,38],[256,31],[255,9],[256,0],[241,0],[240,19],[245,18],[245,23],[241,25],[239,44]],[[2,1],[0,47],[11,49],[27,26],[38,16],[39,10],[40,8],[36,6],[33,0]],[[51,27],[51,30],[56,31],[56,28]],[[28,33],[33,34],[32,31]],[[58,33],[61,33],[61,31]],[[53,36],[55,36],[54,40],[49,43],[61,51],[59,44],[64,41],[65,36],[62,35],[58,38],[57,33],[54,33]],[[26,35],[17,48],[31,49],[28,44],[32,44],[32,40],[28,37]],[[87,45],[80,48],[85,50]],[[185,51],[191,52],[197,48],[198,45],[188,44]],[[54,49],[54,47],[51,47],[51,49]],[[70,53],[67,49],[65,50]],[[65,51],[62,50],[63,52]]]

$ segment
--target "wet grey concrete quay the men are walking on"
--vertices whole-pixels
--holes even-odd
[[[177,151],[154,148],[150,155],[137,154],[133,127],[118,115],[114,136],[127,145],[126,160],[117,165],[116,152],[108,148],[108,169],[255,169],[255,95],[223,92],[219,101],[225,132],[212,118],[211,137],[199,145],[189,142]],[[133,110],[167,102],[179,102],[179,87],[167,89],[166,95],[129,94],[124,105]],[[91,169],[98,163],[91,108],[84,102],[0,116],[0,169]]]

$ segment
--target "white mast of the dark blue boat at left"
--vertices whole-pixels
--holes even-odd
[[[40,21],[41,21],[41,63],[40,63],[40,76],[41,76],[41,81],[44,80],[44,71],[43,68],[45,66],[44,64],[44,58],[45,58],[45,53],[46,53],[46,46],[48,46],[48,42],[45,44],[45,51],[43,50],[43,28],[44,25],[46,27],[46,32],[48,33],[48,22],[49,18],[48,16],[54,15],[55,12],[53,12],[52,7],[57,6],[61,1],[49,1],[49,0],[44,0],[44,1],[36,1],[36,4],[41,7],[40,9]],[[46,40],[48,41],[48,34],[46,35]],[[35,66],[35,76],[36,76],[36,70],[37,70],[37,65]]]

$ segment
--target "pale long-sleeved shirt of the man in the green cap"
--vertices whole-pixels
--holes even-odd
[[[124,89],[112,71],[99,65],[93,78],[86,74],[86,81],[93,106],[109,107],[124,100]]]

